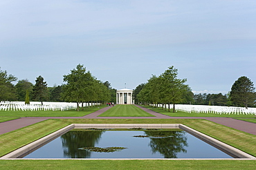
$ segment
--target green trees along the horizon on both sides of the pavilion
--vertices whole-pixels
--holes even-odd
[[[14,75],[8,75],[0,69],[0,101],[51,101],[51,102],[116,102],[116,89],[111,84],[101,82],[86,68],[78,64],[71,73],[64,75],[64,84],[48,87],[44,77],[39,75],[35,84],[28,79],[17,81]],[[170,66],[159,76],[152,75],[147,83],[134,89],[136,104],[199,104],[213,106],[244,106],[254,107],[256,100],[253,82],[246,76],[239,77],[232,85],[231,91],[223,95],[199,93],[194,94],[186,79],[178,78],[178,70]],[[168,107],[170,108],[170,107]]]

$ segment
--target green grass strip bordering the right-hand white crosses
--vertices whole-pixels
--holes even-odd
[[[172,109],[170,110],[170,112],[168,111],[168,109],[165,108],[153,108],[152,106],[143,106],[145,108],[149,108],[152,111],[155,111],[157,113],[161,113],[163,115],[169,115],[172,117],[255,117],[255,115],[243,115],[243,114],[216,114],[216,113],[186,113],[186,112],[182,112],[182,111],[176,111],[175,113],[172,112]]]

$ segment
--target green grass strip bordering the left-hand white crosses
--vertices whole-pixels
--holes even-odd
[[[104,108],[106,105],[101,106],[90,106],[84,107],[84,111],[0,111],[0,116],[8,116],[8,117],[80,117],[84,115],[89,115],[95,111],[100,110],[100,108]]]

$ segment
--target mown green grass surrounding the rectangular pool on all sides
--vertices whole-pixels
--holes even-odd
[[[242,151],[256,155],[256,135],[244,133],[208,120],[45,120],[0,135],[4,155],[71,123],[170,124],[181,123]],[[221,133],[220,133],[221,132]],[[256,160],[0,160],[0,169],[254,169]]]

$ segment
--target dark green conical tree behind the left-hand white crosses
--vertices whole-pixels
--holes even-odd
[[[33,99],[39,101],[43,105],[43,101],[48,100],[47,84],[44,82],[44,78],[39,75],[35,80],[35,86],[33,86]]]

